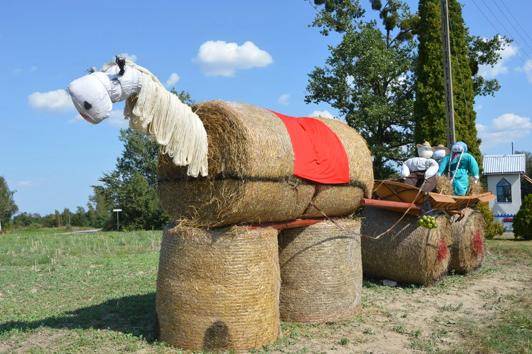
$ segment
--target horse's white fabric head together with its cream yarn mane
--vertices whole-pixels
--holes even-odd
[[[207,133],[200,117],[151,72],[121,56],[89,72],[67,88],[81,117],[98,124],[110,116],[114,102],[126,100],[131,129],[159,143],[176,166],[188,166],[187,175],[207,175]]]

